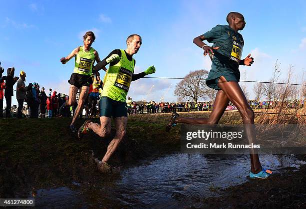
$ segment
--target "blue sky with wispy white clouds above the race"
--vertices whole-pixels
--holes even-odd
[[[229,11],[242,13],[246,21],[241,31],[245,41],[242,57],[251,53],[255,61],[251,67],[240,67],[242,72],[246,71],[246,80],[267,81],[278,59],[282,77],[292,64],[297,82],[301,83],[306,71],[303,61],[306,57],[306,2],[303,0],[290,3],[279,0],[219,0],[218,3],[204,0],[5,0],[1,2],[0,15],[1,66],[5,69],[14,66],[17,74],[20,69],[25,71],[26,84],[38,82],[40,87],[68,93],[67,80],[74,63],[70,60],[62,65],[59,59],[82,45],[81,36],[92,30],[96,35],[92,47],[101,59],[115,48],[125,49],[126,37],[138,33],[142,45],[134,55],[136,72],[155,65],[156,73],[151,76],[183,77],[190,70],[210,69],[209,58],[202,56],[202,49],[194,45],[192,39],[217,24],[226,24]],[[103,76],[102,71],[101,74]],[[142,78],[131,84],[128,95],[133,100],[155,101],[164,95],[164,100],[175,101],[173,91],[177,82]],[[247,85],[251,93],[253,84]],[[17,102],[13,99],[12,103]]]

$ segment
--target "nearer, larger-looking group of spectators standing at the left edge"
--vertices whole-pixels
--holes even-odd
[[[36,82],[25,85],[26,74],[24,71],[20,71],[19,77],[14,77],[14,67],[7,69],[7,75],[2,76],[4,69],[0,67],[0,118],[10,118],[11,115],[11,98],[13,92],[16,92],[16,99],[18,102],[17,118],[30,117],[30,118],[45,118],[46,113],[49,118],[51,117],[70,117],[71,111],[74,108],[66,111],[65,108],[61,108],[66,101],[67,96],[60,94],[52,89],[49,89],[49,93],[45,93],[44,87],[40,89],[40,86]],[[16,84],[16,89],[14,85]],[[6,106],[3,111],[3,99],[5,97]],[[25,102],[25,105],[24,105]],[[4,114],[3,114],[4,113]]]

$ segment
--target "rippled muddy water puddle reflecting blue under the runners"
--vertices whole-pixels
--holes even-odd
[[[305,162],[294,156],[260,156],[261,164],[274,173]],[[36,206],[50,207],[199,207],[199,200],[216,196],[217,191],[246,181],[249,157],[245,155],[172,154],[123,169],[91,189],[73,183],[73,189],[38,190]],[[54,205],[55,204],[55,205]]]

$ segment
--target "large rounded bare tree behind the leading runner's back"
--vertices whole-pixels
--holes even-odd
[[[174,95],[178,100],[192,99],[194,103],[199,98],[205,98],[207,87],[205,78],[208,75],[207,70],[190,71],[179,83],[176,84]]]

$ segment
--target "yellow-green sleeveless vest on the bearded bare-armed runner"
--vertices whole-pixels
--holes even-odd
[[[90,75],[92,73],[92,65],[94,63],[94,49],[90,47],[89,51],[84,51],[83,46],[79,47],[79,51],[75,56],[74,73],[81,75]]]

